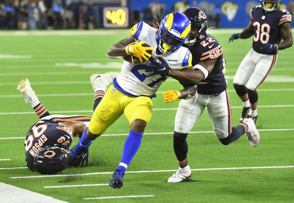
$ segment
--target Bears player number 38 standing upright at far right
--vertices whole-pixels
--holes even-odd
[[[292,15],[279,9],[281,0],[260,0],[250,12],[250,22],[241,33],[229,39],[247,39],[254,35],[252,49],[244,57],[234,77],[234,88],[243,101],[240,121],[247,114],[256,122],[258,94],[256,88],[266,79],[277,63],[277,50],[292,46],[290,23]],[[283,41],[281,42],[281,40]],[[245,86],[246,83],[246,86]]]

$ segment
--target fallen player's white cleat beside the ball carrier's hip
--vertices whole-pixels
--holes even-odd
[[[107,72],[104,74],[93,74],[90,76],[90,81],[93,87],[93,90],[97,88],[103,87],[105,90],[109,84],[112,83],[113,79],[115,79],[119,75],[118,72]]]

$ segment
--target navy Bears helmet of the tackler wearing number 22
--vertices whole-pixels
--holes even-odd
[[[208,28],[208,17],[199,8],[188,8],[184,10],[183,14],[185,14],[191,22],[191,33],[186,44],[193,45],[195,42],[205,37]],[[192,33],[194,30],[198,30],[198,32]]]

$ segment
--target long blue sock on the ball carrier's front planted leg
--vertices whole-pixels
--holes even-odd
[[[130,162],[134,158],[141,145],[142,137],[142,133],[130,131],[129,136],[126,138],[125,145],[123,146],[122,158],[120,160],[119,166],[116,169],[126,172],[126,168],[128,165],[130,165]]]

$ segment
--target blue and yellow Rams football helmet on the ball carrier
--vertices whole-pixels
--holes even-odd
[[[158,49],[163,54],[176,52],[188,40],[190,20],[183,13],[170,13],[161,20],[156,35]]]

